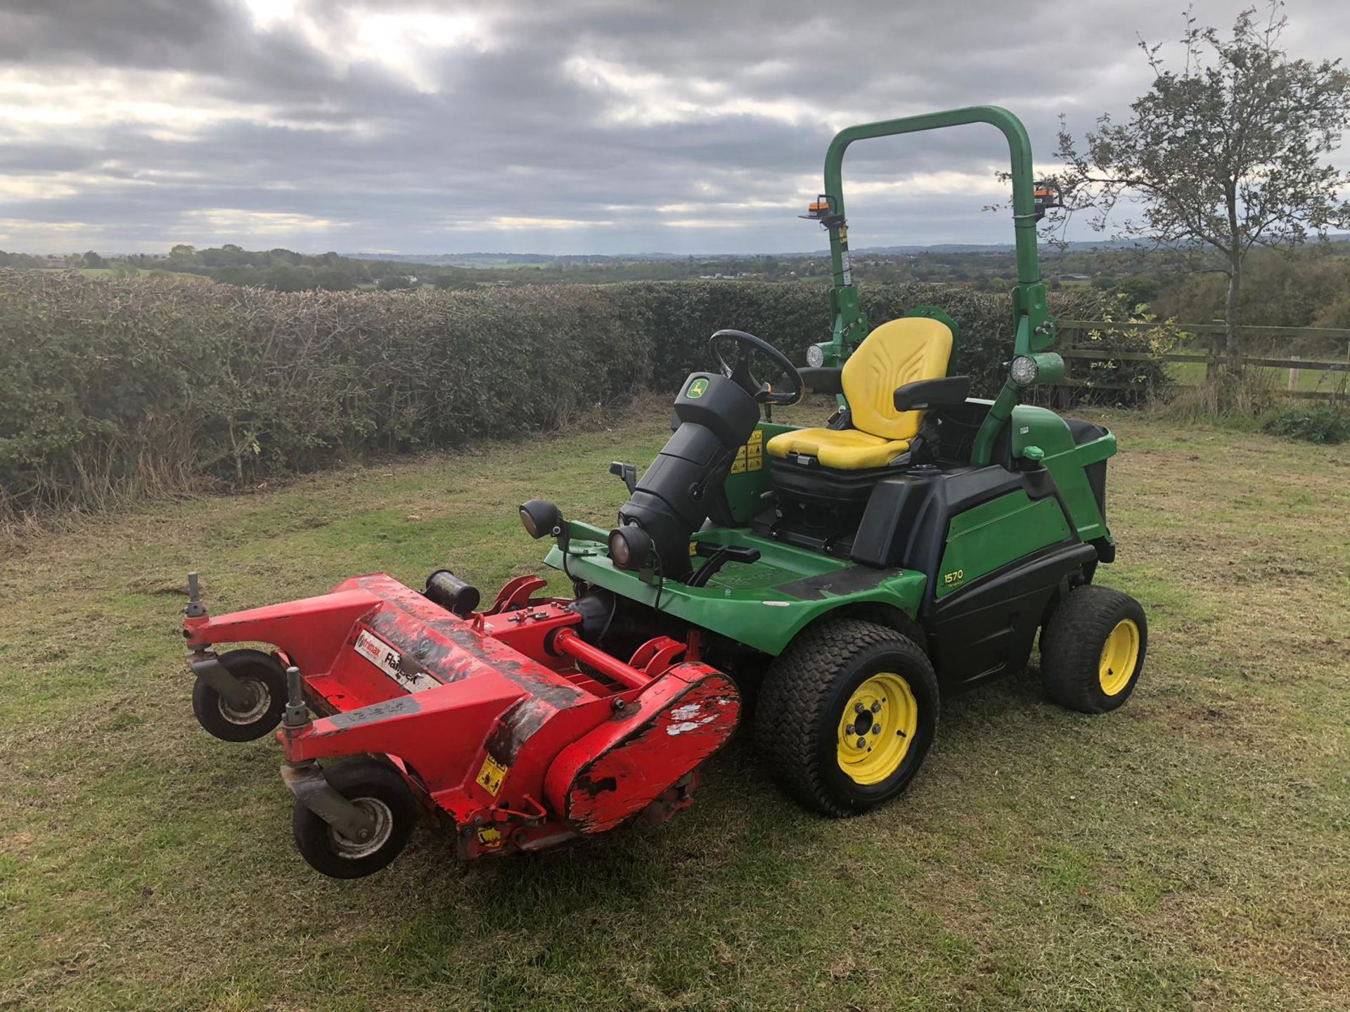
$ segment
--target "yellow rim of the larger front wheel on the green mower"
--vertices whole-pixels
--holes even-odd
[[[879,784],[900,768],[919,726],[919,704],[899,675],[873,675],[840,715],[840,769],[857,784]]]

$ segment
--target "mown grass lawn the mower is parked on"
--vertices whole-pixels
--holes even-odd
[[[0,563],[0,1008],[1350,1008],[1350,448],[1107,417],[1102,580],[1152,625],[1122,711],[1033,667],[865,818],[738,737],[663,827],[467,866],[420,830],[355,882],[296,853],[275,743],[196,726],[184,573],[220,611],[490,592],[540,555],[516,505],[606,522],[664,410],[34,536]]]

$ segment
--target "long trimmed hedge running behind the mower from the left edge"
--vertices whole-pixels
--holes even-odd
[[[1092,316],[1094,298],[1056,309]],[[1007,298],[864,289],[873,324],[915,304],[957,320],[957,368],[996,389]],[[0,518],[551,428],[672,391],[721,327],[801,362],[826,306],[811,283],[274,293],[0,270]]]

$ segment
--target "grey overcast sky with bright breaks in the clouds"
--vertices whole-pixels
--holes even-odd
[[[0,0],[0,248],[752,252],[845,125],[992,103],[1049,163],[1148,86],[1183,0]],[[1239,3],[1200,0],[1203,23]],[[1345,0],[1287,49],[1350,53]],[[1007,242],[991,127],[845,162],[857,246]]]

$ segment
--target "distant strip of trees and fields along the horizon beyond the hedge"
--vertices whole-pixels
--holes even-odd
[[[1150,305],[1183,322],[1223,316],[1227,277],[1203,256],[1179,258],[1150,250],[1046,247],[1042,273],[1052,291],[1091,287]],[[192,274],[225,285],[271,291],[460,290],[525,285],[603,285],[624,281],[814,281],[830,279],[824,255],[613,258],[560,256],[521,262],[489,259],[474,266],[360,259],[336,252],[243,250],[225,244],[197,250],[174,246],[166,255],[107,258],[97,252],[35,256],[0,251],[0,267],[81,269],[119,277]],[[855,275],[871,283],[940,283],[1003,294],[1017,279],[1011,250],[919,252],[860,250]],[[1241,321],[1284,327],[1350,325],[1350,244],[1310,244],[1293,254],[1254,251],[1246,264]]]

